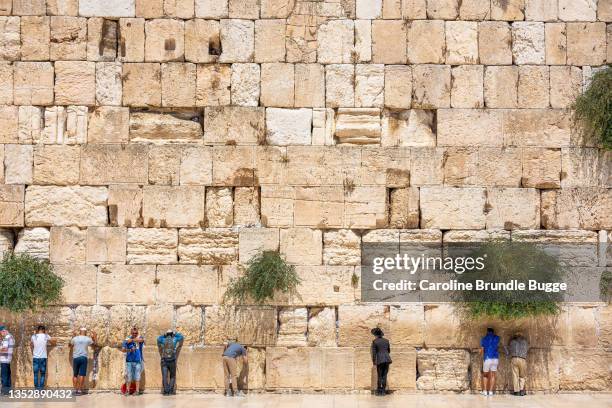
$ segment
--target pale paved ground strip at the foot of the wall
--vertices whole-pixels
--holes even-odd
[[[384,398],[370,395],[254,394],[245,398],[226,398],[216,394],[179,394],[174,397],[145,394],[124,397],[98,393],[78,397],[76,404],[88,408],[610,408],[612,394],[540,394],[526,397],[403,394]],[[66,408],[74,404],[13,402],[2,405],[6,408]]]

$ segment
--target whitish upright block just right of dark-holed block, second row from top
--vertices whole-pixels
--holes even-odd
[[[222,52],[219,62],[252,62],[255,54],[255,24],[249,20],[221,20]]]

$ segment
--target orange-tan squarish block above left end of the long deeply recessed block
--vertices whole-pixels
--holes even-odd
[[[123,64],[123,104],[161,106],[160,64]]]

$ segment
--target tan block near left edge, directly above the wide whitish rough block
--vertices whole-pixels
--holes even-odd
[[[79,182],[79,160],[80,148],[78,146],[35,146],[34,184],[77,184]]]

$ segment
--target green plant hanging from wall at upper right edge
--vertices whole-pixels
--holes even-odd
[[[612,149],[612,66],[596,72],[587,90],[576,98],[574,119],[587,138]]]

